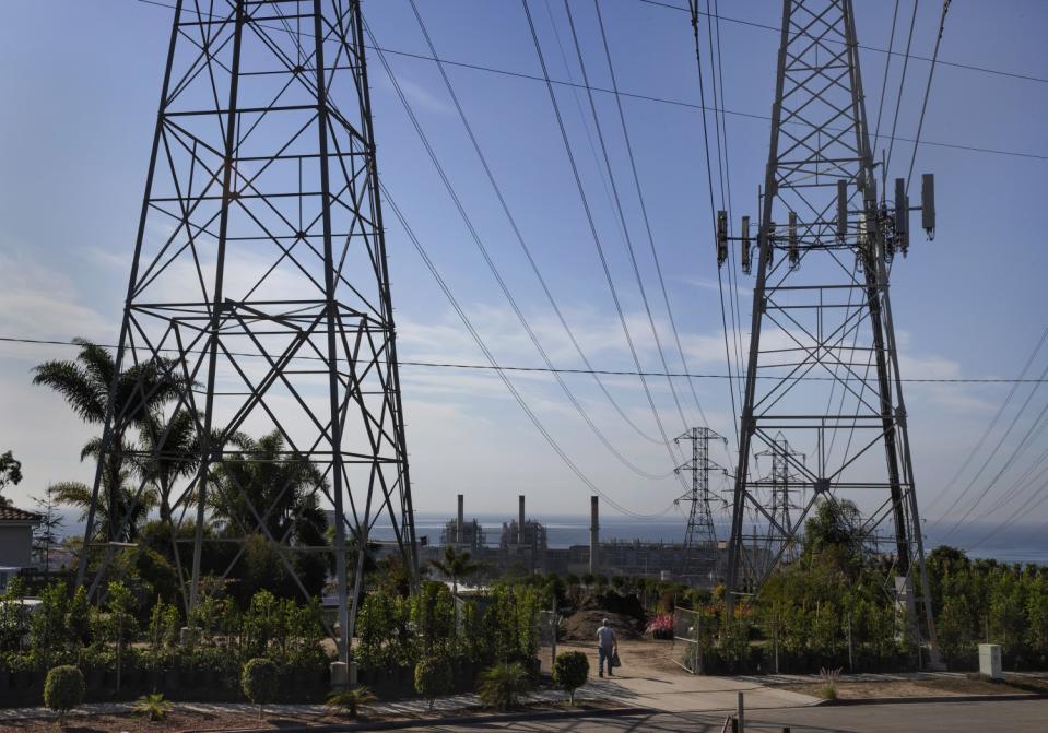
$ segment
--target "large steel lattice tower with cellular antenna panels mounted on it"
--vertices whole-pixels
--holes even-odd
[[[750,353],[740,417],[739,468],[729,539],[729,599],[759,592],[794,545],[805,518],[829,508],[871,547],[891,535],[895,583],[909,632],[937,646],[888,299],[894,256],[909,239],[907,181],[878,196],[851,0],[785,0],[772,140],[756,232]],[[883,174],[882,174],[883,175]],[[932,235],[931,176],[922,225]],[[718,264],[729,241],[753,265],[749,217],[729,237],[717,222]],[[732,245],[734,246],[734,244]],[[757,490],[755,449],[777,440],[811,446],[808,461],[780,452],[806,499],[782,511],[781,494]],[[863,515],[845,499],[861,497]],[[758,523],[746,552],[744,520]],[[759,567],[756,567],[759,566]],[[919,591],[915,576],[920,576]],[[744,578],[752,578],[746,584]],[[920,619],[920,622],[918,620]],[[921,625],[923,629],[921,629]],[[923,637],[927,632],[927,637]]]

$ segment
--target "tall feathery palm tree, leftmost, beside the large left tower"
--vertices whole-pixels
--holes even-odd
[[[117,518],[120,516],[121,488],[127,478],[123,472],[123,460],[129,448],[125,442],[126,433],[129,427],[143,425],[160,405],[179,393],[185,382],[170,375],[170,363],[164,359],[136,364],[118,374],[108,350],[84,339],[74,339],[74,343],[80,346],[75,360],[58,359],[40,364],[33,370],[33,383],[50,387],[66,398],[69,406],[84,422],[98,425],[105,423],[109,390],[114,390],[110,424],[113,448],[103,459],[106,462],[103,481],[108,539],[116,540],[114,534],[119,533]],[[92,454],[92,442],[84,448],[82,457]],[[101,452],[101,442],[94,452]]]

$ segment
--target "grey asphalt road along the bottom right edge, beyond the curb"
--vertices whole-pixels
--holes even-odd
[[[404,729],[431,733],[514,731],[520,733],[719,733],[725,714],[655,713],[628,718],[575,718],[544,722],[479,723],[468,726],[425,725]],[[958,733],[1048,730],[1048,700],[979,702],[909,702],[905,705],[819,706],[784,710],[754,710],[746,716],[747,733]]]

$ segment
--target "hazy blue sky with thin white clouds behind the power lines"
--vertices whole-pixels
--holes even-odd
[[[137,0],[5,4],[9,22],[0,27],[0,68],[5,70],[0,99],[8,113],[0,116],[0,336],[84,336],[101,343],[117,338],[170,32],[172,11],[161,5]],[[856,5],[860,44],[886,48],[893,3],[857,0]],[[531,0],[530,7],[551,75],[579,81],[564,3]],[[419,8],[443,58],[540,73],[519,2],[419,0]],[[905,42],[912,9],[911,2],[899,2],[896,48]],[[931,56],[940,9],[935,2],[918,2],[912,54]],[[702,115],[693,106],[699,88],[688,15],[640,0],[602,0],[601,10],[620,90],[686,103],[623,97],[687,365],[696,373],[725,374]],[[755,215],[778,35],[753,24],[777,26],[781,5],[752,0],[725,2],[720,10],[723,105],[741,113],[725,116],[733,211]],[[572,12],[590,83],[608,87],[593,4],[572,0]],[[364,13],[380,47],[428,56],[408,0],[365,0]],[[42,42],[38,31],[45,28]],[[921,145],[915,172],[935,174],[938,229],[933,241],[915,237],[909,256],[897,261],[892,273],[904,377],[1015,377],[1048,326],[1043,286],[1048,249],[1036,218],[1048,193],[1048,146],[1041,134],[1048,115],[1046,32],[1048,7],[1041,2],[950,5],[942,61],[1034,79],[958,66],[935,69],[921,138],[943,144]],[[881,104],[887,57],[870,48],[860,51],[860,62],[872,119]],[[497,359],[541,366],[451,204],[381,60],[374,49],[369,54],[385,186]],[[493,194],[435,64],[402,54],[386,58],[551,360],[563,368],[582,366]],[[893,122],[900,64],[896,57],[883,87],[885,130]],[[600,369],[632,369],[545,85],[475,68],[447,70],[521,236],[590,362]],[[927,61],[908,62],[897,120],[900,138],[916,133],[928,70]],[[585,92],[566,86],[557,86],[556,94],[638,358],[645,369],[661,370],[594,143],[589,101]],[[647,248],[614,98],[598,92],[594,105],[641,279],[652,298],[656,332],[670,368],[679,371],[680,355]],[[711,125],[711,115],[708,120]],[[876,147],[884,146],[882,139]],[[895,144],[890,175],[906,174],[911,152],[910,143]],[[388,213],[387,224],[401,359],[483,364],[480,350]],[[739,283],[741,320],[749,323],[752,281],[740,275]],[[95,428],[81,424],[58,395],[31,383],[34,365],[72,355],[63,346],[0,343],[0,449],[12,449],[23,463],[23,483],[7,492],[16,504],[27,506],[28,497],[40,495],[51,482],[91,475],[79,453]],[[1038,376],[1046,365],[1048,351],[1043,350],[1027,376]],[[468,511],[510,516],[517,494],[528,495],[535,515],[587,510],[590,490],[539,435],[496,375],[404,366],[401,378],[416,508],[450,513],[455,495],[464,493]],[[681,494],[672,475],[641,475],[664,476],[673,464],[666,447],[651,440],[656,424],[636,377],[604,380],[616,409],[591,377],[565,376],[622,460],[593,435],[549,375],[513,374],[510,379],[564,452],[616,503],[636,512],[657,512]],[[687,401],[681,421],[666,380],[652,379],[650,385],[668,437],[700,424]],[[709,426],[732,435],[726,380],[696,379],[694,386]],[[687,390],[682,381],[676,387],[682,394]],[[949,527],[985,494],[985,506],[976,506],[972,519],[994,524],[1016,510],[1022,521],[1048,519],[1048,504],[1037,504],[1045,485],[1038,471],[1048,449],[1045,421],[1037,422],[1037,416],[1048,394],[1037,385],[1020,386],[987,431],[1011,385],[907,383],[905,389],[918,496],[929,508],[926,518],[934,521],[945,515],[942,524]],[[1026,410],[1018,414],[1027,398]],[[732,462],[730,450],[720,450],[715,459]],[[964,499],[952,506],[969,485]],[[715,488],[726,487],[721,483]],[[1005,501],[998,506],[998,499]],[[996,513],[986,515],[992,506],[998,506]]]

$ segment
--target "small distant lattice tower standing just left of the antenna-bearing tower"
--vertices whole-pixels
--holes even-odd
[[[718,569],[717,531],[709,508],[709,471],[723,469],[709,460],[709,441],[723,439],[708,427],[693,427],[673,441],[690,440],[692,444],[692,460],[675,469],[676,473],[688,471],[692,474],[692,488],[676,500],[676,504],[688,504],[681,559],[683,578],[711,580]]]

